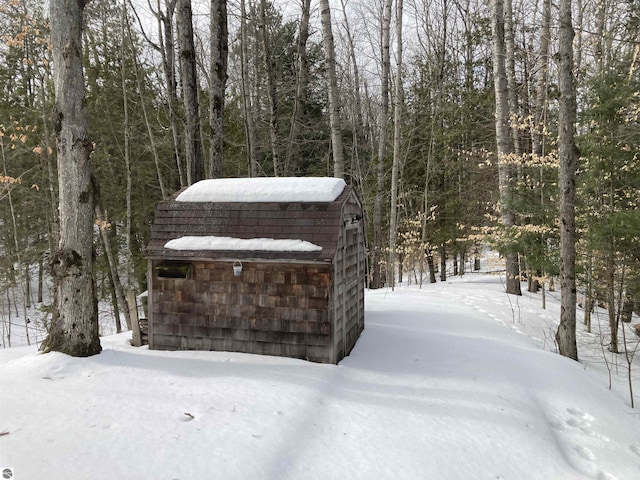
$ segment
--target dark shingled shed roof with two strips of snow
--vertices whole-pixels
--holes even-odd
[[[352,196],[335,178],[203,180],[158,205],[147,255],[331,262]]]

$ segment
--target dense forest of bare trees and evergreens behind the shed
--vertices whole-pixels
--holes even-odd
[[[507,293],[559,284],[562,354],[577,358],[571,331],[593,305],[618,351],[640,309],[638,2],[71,3],[76,107],[58,90],[56,10],[0,4],[3,308],[42,302],[47,282],[69,295],[56,268],[76,251],[74,181],[90,208],[77,214],[96,220],[83,298],[117,312],[146,288],[167,195],[205,177],[339,176],[364,204],[370,288],[445,281],[493,248]],[[66,108],[86,114],[87,171],[63,161]],[[49,328],[66,314],[45,300]]]

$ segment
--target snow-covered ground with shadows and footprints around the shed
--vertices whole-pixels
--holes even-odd
[[[0,350],[0,470],[19,480],[640,478],[623,356],[604,355],[582,327],[580,363],[552,353],[557,299],[543,310],[539,294],[502,292],[484,274],[369,291],[365,331],[338,366],[149,351],[128,334],[103,337],[85,359]]]

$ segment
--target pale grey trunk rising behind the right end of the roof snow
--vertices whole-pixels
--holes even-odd
[[[331,146],[333,151],[333,176],[344,178],[344,147],[342,145],[342,121],[340,120],[340,92],[336,75],[336,54],[331,30],[329,0],[320,0],[322,42],[327,69],[327,94],[329,96],[329,122],[331,124]]]

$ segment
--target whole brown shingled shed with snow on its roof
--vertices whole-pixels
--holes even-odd
[[[149,348],[337,363],[364,328],[362,205],[335,178],[203,180],[158,205]]]

